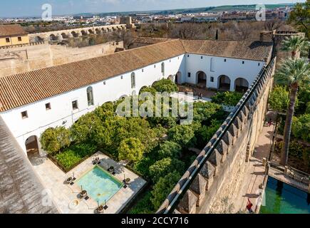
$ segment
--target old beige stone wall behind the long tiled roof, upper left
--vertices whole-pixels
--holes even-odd
[[[114,53],[116,48],[123,47],[123,41],[120,41],[83,48],[43,43],[36,46],[0,49],[0,77],[95,58]]]

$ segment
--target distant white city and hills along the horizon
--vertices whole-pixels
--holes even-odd
[[[286,20],[294,4],[277,4],[266,6],[266,19]],[[221,11],[223,9],[224,11]],[[131,16],[135,25],[145,23],[182,23],[209,21],[254,21],[257,10],[251,6],[218,6],[202,9],[183,9],[168,11],[105,13],[105,14],[76,14],[71,16],[53,16],[51,21],[61,21],[66,26],[103,26],[120,24],[122,16]],[[6,18],[3,24],[29,23],[42,21],[40,17]]]

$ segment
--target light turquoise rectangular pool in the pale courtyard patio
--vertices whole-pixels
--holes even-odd
[[[87,172],[83,177],[81,177],[78,182],[78,186],[82,186],[83,190],[88,192],[95,202],[99,204],[104,204],[105,200],[108,200],[115,195],[123,183],[116,180],[108,172],[101,169],[97,165],[93,167],[93,170]]]

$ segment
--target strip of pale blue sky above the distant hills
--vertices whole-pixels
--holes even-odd
[[[9,0],[1,1],[0,18],[40,16],[43,4],[53,6],[53,15],[84,12],[114,12],[157,9],[182,9],[237,4],[296,3],[305,0]]]

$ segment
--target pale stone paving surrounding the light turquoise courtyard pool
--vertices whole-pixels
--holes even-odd
[[[115,162],[101,152],[95,153],[95,155],[89,157],[68,173],[64,173],[47,157],[32,157],[31,163],[34,169],[61,213],[93,214],[96,212],[98,204],[95,200],[91,198],[88,200],[80,199],[79,192],[81,192],[81,187],[76,184],[72,186],[66,184],[66,179],[72,177],[73,173],[74,177],[78,179],[86,172],[93,169],[93,160],[95,157],[100,158],[100,166],[105,170],[110,166],[115,167],[116,173],[114,177],[116,179],[122,182],[125,175],[125,178],[129,177],[131,180],[127,188],[122,187],[108,200],[108,209],[105,210],[105,214],[119,213],[121,209],[128,204],[130,199],[135,197],[139,190],[145,185],[146,181],[143,180],[143,178],[126,169],[124,164]]]

